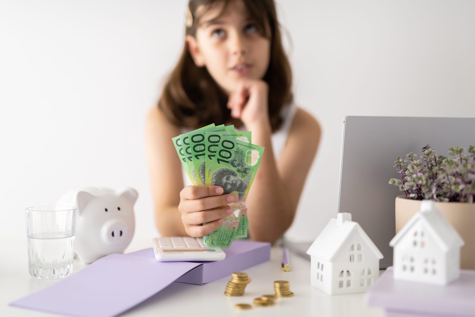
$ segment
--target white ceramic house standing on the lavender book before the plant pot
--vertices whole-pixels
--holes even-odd
[[[460,276],[464,240],[433,201],[420,209],[390,242],[394,279],[446,285]]]

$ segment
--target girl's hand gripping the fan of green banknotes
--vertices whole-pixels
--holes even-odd
[[[228,217],[231,208],[212,209],[231,203],[232,195],[223,195],[219,186],[187,186],[180,192],[181,221],[191,237],[202,237],[215,231]],[[212,210],[209,210],[212,209]],[[208,222],[205,225],[202,223]]]

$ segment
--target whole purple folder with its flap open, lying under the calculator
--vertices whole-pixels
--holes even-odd
[[[10,306],[75,317],[114,317],[174,281],[206,284],[270,259],[270,244],[265,242],[235,240],[224,250],[226,259],[213,262],[158,262],[152,249],[111,254]]]

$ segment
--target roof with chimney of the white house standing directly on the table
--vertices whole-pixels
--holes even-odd
[[[312,243],[310,248],[307,250],[307,254],[316,256],[325,261],[332,261],[352,232],[357,231],[363,242],[368,245],[373,254],[378,259],[382,259],[383,255],[376,245],[374,245],[373,241],[371,241],[370,237],[368,237],[358,222],[351,221],[351,214],[348,215],[350,215],[349,221],[342,221],[340,217],[343,219],[346,217],[340,213],[338,214],[338,220],[334,218],[331,219],[325,229],[323,229],[322,233],[320,233],[314,243]]]

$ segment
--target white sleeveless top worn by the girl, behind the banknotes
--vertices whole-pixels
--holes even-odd
[[[285,106],[281,110],[281,117],[284,120],[280,128],[271,136],[272,149],[274,152],[274,158],[279,160],[280,154],[284,151],[285,144],[287,143],[287,137],[289,136],[292,122],[294,122],[295,113],[297,112],[297,106],[294,103]],[[181,127],[181,134],[193,131],[189,127]],[[242,125],[236,128],[236,131],[247,131],[246,127]],[[181,166],[181,174],[183,176],[183,184],[186,186],[193,185],[185,173],[185,169]]]

